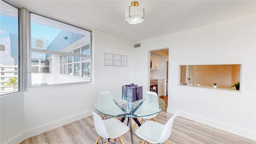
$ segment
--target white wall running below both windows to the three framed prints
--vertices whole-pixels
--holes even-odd
[[[93,82],[30,90],[24,92],[24,99],[23,93],[1,97],[0,143],[19,143],[25,138],[90,116],[100,91],[120,92],[122,85],[131,82],[132,49],[131,42],[94,30]],[[104,66],[105,52],[126,55],[128,66]],[[14,105],[16,103],[18,105]]]

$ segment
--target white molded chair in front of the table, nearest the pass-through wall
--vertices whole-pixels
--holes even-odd
[[[160,124],[154,121],[147,121],[142,124],[136,131],[136,135],[143,139],[142,144],[145,141],[156,144],[156,143],[164,143],[168,144],[168,138],[172,132],[172,123],[176,116],[178,116],[179,112],[175,112],[172,118],[168,120],[166,125]]]

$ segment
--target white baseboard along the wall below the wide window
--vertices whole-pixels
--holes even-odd
[[[49,124],[45,124],[43,126],[38,126],[37,128],[32,128],[30,130],[26,130],[23,133],[19,134],[18,136],[15,136],[12,140],[9,140],[8,142],[6,142],[7,144],[18,144],[20,142],[22,142],[23,140],[30,138],[32,136],[36,136],[38,134],[42,134],[43,132],[47,132],[49,130],[52,130],[54,128],[58,128],[60,126],[63,126],[65,124],[69,124],[71,122],[75,122],[76,120],[80,120],[82,118],[86,118],[88,116],[91,116],[92,113],[91,111],[96,112],[95,109],[93,110],[89,110],[74,116],[70,116],[68,118],[64,118],[62,120],[58,120],[56,122],[52,122]]]

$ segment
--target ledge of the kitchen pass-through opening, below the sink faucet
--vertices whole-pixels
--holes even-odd
[[[200,85],[200,86],[187,86],[185,84],[180,84],[178,86],[187,87],[187,88],[198,88],[198,89],[208,89],[208,90],[218,90],[218,91],[228,91],[228,92],[242,92],[241,90],[236,90],[235,87],[229,86],[218,86],[217,88],[213,88],[213,85]]]

